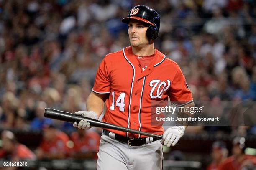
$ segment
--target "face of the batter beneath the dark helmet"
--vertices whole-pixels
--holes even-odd
[[[146,36],[146,27],[143,22],[139,20],[131,20],[128,24],[129,26],[129,39],[133,47],[143,47],[148,45],[149,41]]]

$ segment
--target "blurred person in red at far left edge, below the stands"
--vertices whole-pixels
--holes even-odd
[[[5,130],[1,134],[2,149],[0,159],[8,161],[35,160],[36,155],[23,144],[20,144],[13,132]]]

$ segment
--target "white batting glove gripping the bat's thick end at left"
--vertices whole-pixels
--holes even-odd
[[[83,117],[89,117],[89,118],[92,118],[92,119],[99,119],[99,117],[97,116],[97,114],[93,111],[78,111],[78,112],[74,112],[74,114],[76,115],[81,115]],[[90,129],[90,123],[87,122],[87,120],[80,120],[80,122],[77,124],[77,122],[74,122],[73,123],[73,126],[74,127],[78,127],[78,129]]]

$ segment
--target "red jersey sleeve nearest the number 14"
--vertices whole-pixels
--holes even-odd
[[[99,94],[110,93],[110,76],[108,74],[106,57],[97,70],[92,91]]]

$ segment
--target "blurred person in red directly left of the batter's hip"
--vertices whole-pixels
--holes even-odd
[[[71,140],[74,142],[71,157],[76,159],[97,159],[100,145],[100,135],[93,131],[77,129],[72,132]]]

